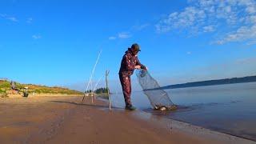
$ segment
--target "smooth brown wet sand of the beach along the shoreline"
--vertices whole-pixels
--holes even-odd
[[[82,97],[0,98],[0,143],[227,143]],[[160,122],[160,120],[159,120]],[[179,127],[179,128],[178,128]],[[187,130],[182,129],[190,129]],[[192,130],[192,131],[191,131]],[[250,141],[237,141],[247,142]],[[251,142],[252,143],[252,142]]]

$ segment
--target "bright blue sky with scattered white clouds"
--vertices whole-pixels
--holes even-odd
[[[0,2],[0,78],[84,90],[102,50],[94,82],[110,70],[120,90],[120,61],[134,42],[162,86],[254,75],[256,2]]]

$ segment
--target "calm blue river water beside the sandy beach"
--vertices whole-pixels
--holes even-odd
[[[132,102],[138,109],[151,114],[256,141],[256,82],[181,88],[166,92],[179,106],[178,110],[168,113],[152,110],[142,92],[135,92]],[[122,94],[113,94],[111,98],[114,106],[125,106]]]

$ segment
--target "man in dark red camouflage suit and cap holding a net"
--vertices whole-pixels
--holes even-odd
[[[144,69],[146,66],[142,65],[138,60],[138,52],[141,51],[138,44],[134,43],[131,48],[128,48],[122,57],[121,67],[119,70],[119,78],[122,85],[122,93],[126,102],[126,110],[135,110],[130,102],[131,83],[130,75],[134,74],[135,69]]]

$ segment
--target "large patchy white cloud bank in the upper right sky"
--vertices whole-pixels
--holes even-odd
[[[255,42],[256,2],[254,0],[188,0],[189,6],[169,14],[156,25],[159,33],[218,32],[214,43]]]

